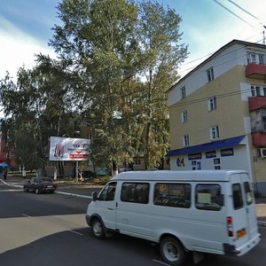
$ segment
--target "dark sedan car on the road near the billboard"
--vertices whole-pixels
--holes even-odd
[[[54,192],[57,189],[57,184],[52,182],[50,177],[33,177],[23,186],[24,192]]]

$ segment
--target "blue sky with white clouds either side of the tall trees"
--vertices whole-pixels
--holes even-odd
[[[51,27],[60,25],[61,0],[0,0],[0,80],[15,77],[20,66],[35,66],[35,54],[56,58],[48,45]],[[265,0],[158,0],[181,18],[180,43],[188,44],[181,76],[233,39],[262,43],[266,26]]]

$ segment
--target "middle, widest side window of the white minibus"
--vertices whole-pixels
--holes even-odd
[[[190,184],[155,184],[154,205],[169,207],[191,207]]]

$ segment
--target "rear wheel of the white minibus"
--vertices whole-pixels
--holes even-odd
[[[182,265],[185,259],[185,252],[180,242],[172,237],[160,241],[160,255],[164,262],[169,265]]]

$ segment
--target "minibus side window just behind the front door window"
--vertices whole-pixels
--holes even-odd
[[[121,187],[121,201],[147,204],[149,202],[150,184],[123,183]]]

